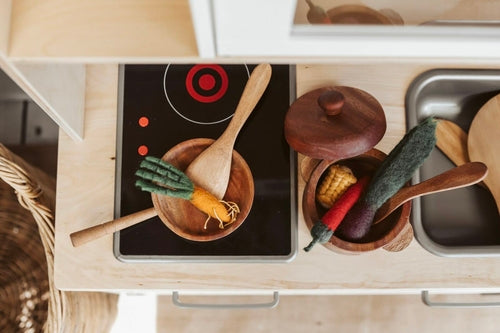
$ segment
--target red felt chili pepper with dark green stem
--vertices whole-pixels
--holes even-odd
[[[365,176],[351,185],[344,194],[335,201],[326,214],[313,225],[311,228],[313,240],[304,248],[305,251],[308,252],[311,250],[316,243],[323,244],[330,240],[333,233],[344,219],[344,216],[361,197],[361,193],[363,193],[363,190],[368,185],[369,179],[368,176]]]

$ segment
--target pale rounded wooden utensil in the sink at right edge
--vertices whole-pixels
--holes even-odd
[[[467,149],[471,161],[489,168],[484,183],[488,186],[500,212],[500,94],[484,104],[472,120]]]

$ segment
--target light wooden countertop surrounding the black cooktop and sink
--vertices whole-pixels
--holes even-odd
[[[452,66],[452,65],[447,65]],[[498,66],[498,64],[497,64]],[[343,63],[297,66],[297,95],[325,85],[351,85],[383,105],[388,152],[405,133],[404,97],[430,63]],[[437,67],[444,67],[437,65]],[[454,65],[454,67],[457,67]],[[402,252],[348,256],[316,246],[299,209],[297,256],[290,263],[148,263],[118,261],[112,236],[73,248],[69,234],[113,218],[117,65],[87,66],[85,139],[60,133],[55,281],[64,290],[148,289],[170,292],[395,293],[430,290],[500,291],[500,258],[441,258],[415,240]],[[299,177],[299,207],[304,181]]]

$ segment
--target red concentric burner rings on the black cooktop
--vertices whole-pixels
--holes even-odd
[[[227,91],[227,73],[219,65],[195,65],[186,76],[186,89],[201,103],[218,101]]]

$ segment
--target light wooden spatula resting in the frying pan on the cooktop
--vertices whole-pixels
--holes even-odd
[[[271,79],[271,66],[260,64],[253,70],[240,102],[226,130],[186,169],[186,175],[218,199],[224,197],[231,171],[231,155],[241,127],[259,102]]]

